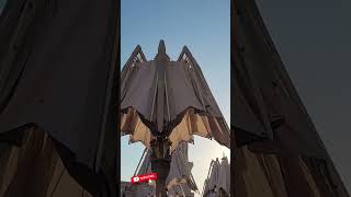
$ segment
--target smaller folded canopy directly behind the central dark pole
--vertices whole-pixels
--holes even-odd
[[[189,162],[188,143],[182,142],[172,153],[171,167],[167,177],[167,188],[169,195],[185,193],[192,195],[191,190],[197,190],[196,183],[192,176],[191,170],[193,163]],[[147,150],[143,163],[137,171],[137,174],[146,174],[151,172],[150,151]],[[152,186],[141,184],[138,190],[143,194],[152,193]]]

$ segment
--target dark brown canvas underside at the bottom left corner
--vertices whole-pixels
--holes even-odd
[[[0,197],[92,197],[67,172],[46,132],[31,129],[1,157]]]

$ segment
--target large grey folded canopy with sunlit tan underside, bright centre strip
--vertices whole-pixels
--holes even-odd
[[[193,135],[214,138],[229,148],[229,128],[188,47],[171,61],[161,40],[154,60],[141,48],[132,54],[121,77],[121,131],[146,147],[166,136],[174,150]]]

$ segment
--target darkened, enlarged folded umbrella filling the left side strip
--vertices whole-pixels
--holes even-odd
[[[118,13],[112,0],[7,2],[1,195],[115,196]]]

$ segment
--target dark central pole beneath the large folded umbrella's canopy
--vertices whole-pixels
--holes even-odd
[[[158,137],[151,141],[151,170],[158,174],[156,182],[156,197],[167,197],[166,179],[171,164],[171,142],[166,137]]]

